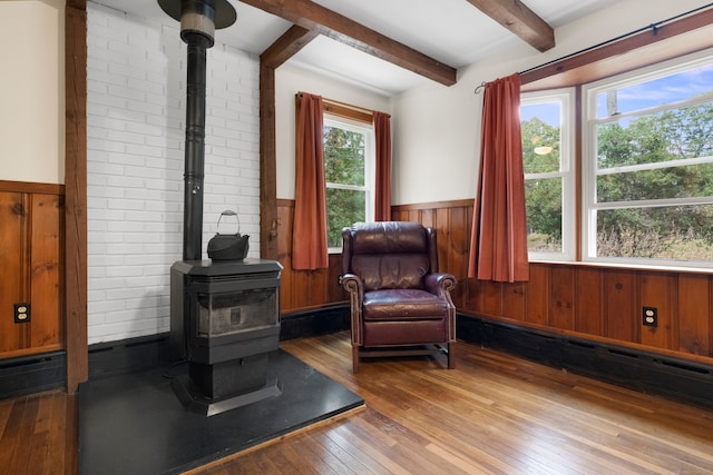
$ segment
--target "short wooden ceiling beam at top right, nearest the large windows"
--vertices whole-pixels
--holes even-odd
[[[555,47],[555,30],[520,0],[468,0],[478,10],[545,52]]]

